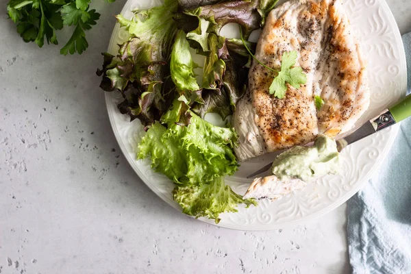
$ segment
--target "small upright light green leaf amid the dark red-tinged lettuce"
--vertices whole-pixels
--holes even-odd
[[[170,61],[171,79],[178,90],[200,89],[193,71],[196,67],[198,65],[192,61],[186,34],[180,30],[175,38]]]

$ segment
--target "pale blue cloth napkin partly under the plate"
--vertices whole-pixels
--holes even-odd
[[[411,88],[411,33],[403,35]],[[378,173],[348,201],[353,273],[411,273],[411,118],[401,122]]]

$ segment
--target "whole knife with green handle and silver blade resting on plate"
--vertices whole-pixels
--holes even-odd
[[[375,118],[364,123],[364,125],[359,127],[355,132],[349,134],[348,136],[345,136],[344,138],[336,140],[338,152],[347,147],[347,145],[361,140],[362,138],[365,138],[366,136],[369,136],[375,132],[379,132],[380,130],[385,129],[390,125],[399,123],[403,119],[406,119],[408,116],[411,116],[411,94],[395,103],[395,105],[393,105],[392,107],[384,110]],[[286,149],[279,151],[279,153],[282,153],[284,151],[286,151]],[[271,162],[271,164],[267,164],[255,173],[248,175],[247,179],[268,171],[271,168],[272,164],[273,162]]]

